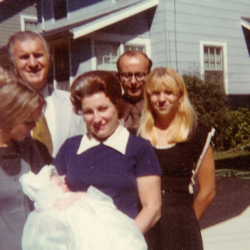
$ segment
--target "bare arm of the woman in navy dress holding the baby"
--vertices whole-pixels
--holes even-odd
[[[161,178],[152,175],[136,180],[142,210],[135,218],[135,223],[145,234],[161,217]]]

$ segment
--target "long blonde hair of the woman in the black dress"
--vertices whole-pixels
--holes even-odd
[[[182,77],[171,68],[155,68],[147,77],[144,88],[144,111],[141,118],[138,134],[148,139],[153,146],[157,144],[158,136],[154,127],[157,119],[151,103],[150,95],[153,91],[160,91],[162,87],[174,94],[182,94],[183,101],[178,107],[174,120],[174,129],[168,143],[187,141],[192,135],[197,118],[195,111],[189,101],[188,93]]]

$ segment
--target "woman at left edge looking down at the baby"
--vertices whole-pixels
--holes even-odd
[[[19,178],[44,165],[30,131],[45,101],[28,84],[0,67],[0,249],[21,250],[30,203]]]

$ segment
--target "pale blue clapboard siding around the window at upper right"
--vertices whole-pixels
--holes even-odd
[[[240,24],[249,16],[249,0],[160,0],[150,29],[154,67],[197,73],[200,41],[226,43],[226,91],[250,94],[250,58]]]

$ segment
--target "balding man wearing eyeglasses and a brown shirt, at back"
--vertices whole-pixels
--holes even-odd
[[[123,125],[127,128],[137,128],[144,104],[144,85],[151,70],[152,61],[146,54],[132,50],[123,53],[116,65],[117,76],[124,90],[123,99],[126,104]]]

